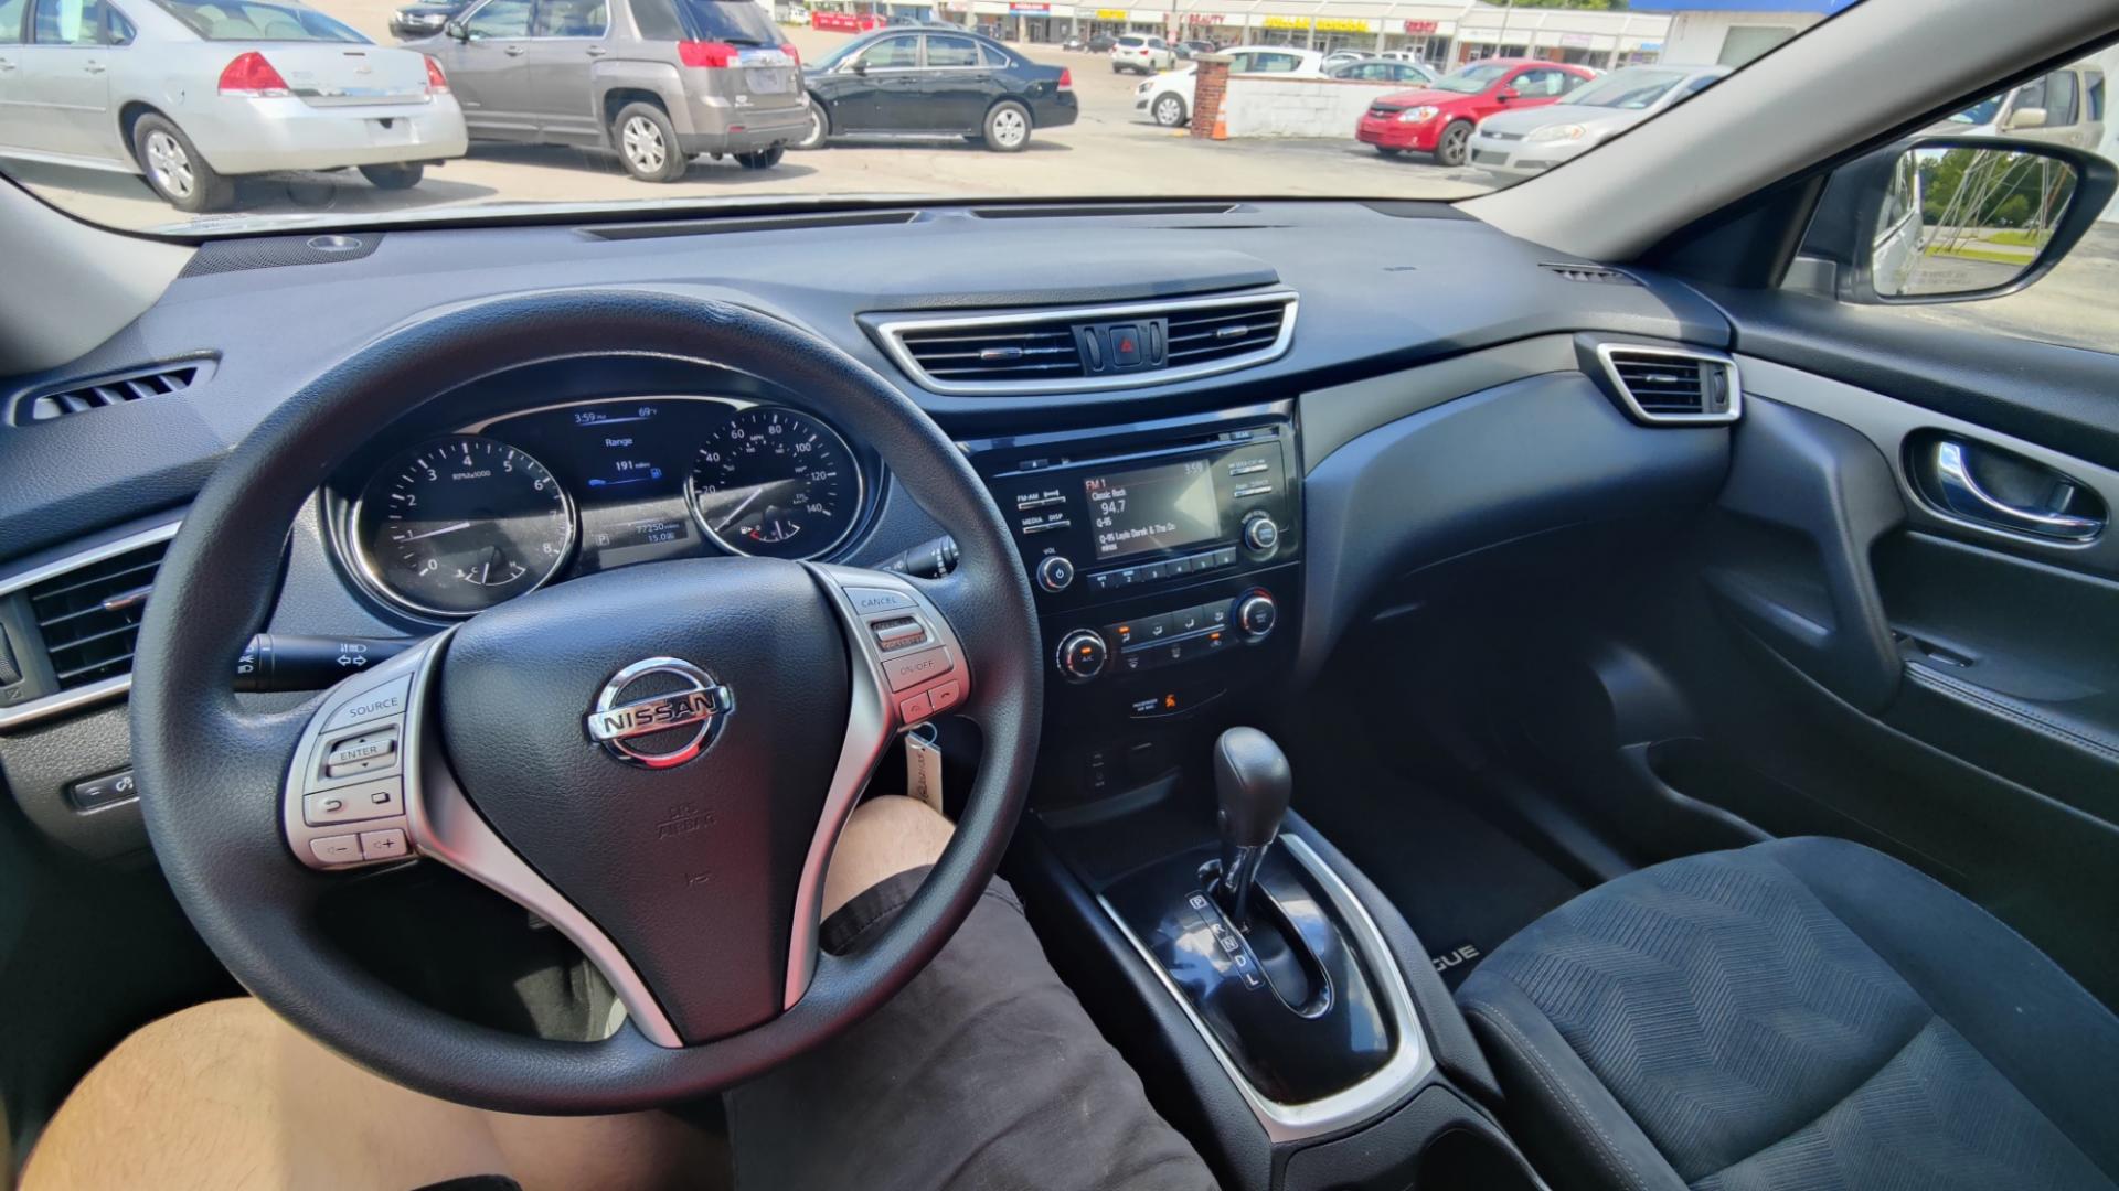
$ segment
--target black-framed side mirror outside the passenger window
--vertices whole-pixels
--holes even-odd
[[[1996,136],[1916,138],[1839,167],[1803,254],[1808,288],[1867,305],[2013,295],[2058,265],[2119,193],[2096,153]]]

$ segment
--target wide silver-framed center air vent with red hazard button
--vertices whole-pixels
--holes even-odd
[[[1295,335],[1295,295],[862,322],[905,375],[934,392],[1093,392],[1276,360]]]

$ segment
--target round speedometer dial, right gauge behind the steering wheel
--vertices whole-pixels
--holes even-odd
[[[818,557],[860,515],[860,468],[831,426],[754,405],[708,434],[691,466],[691,511],[723,549]]]

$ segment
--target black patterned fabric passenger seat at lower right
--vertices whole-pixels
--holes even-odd
[[[1994,916],[1841,839],[1608,882],[1458,1002],[1560,1189],[2119,1183],[2119,1019]]]

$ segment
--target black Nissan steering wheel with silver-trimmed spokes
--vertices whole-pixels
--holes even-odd
[[[754,557],[629,566],[483,612],[292,712],[229,661],[303,502],[364,439],[532,358],[659,354],[801,394],[875,445],[962,547],[939,581]],[[282,1017],[420,1091],[610,1113],[756,1077],[898,992],[1000,863],[1036,757],[1036,619],[962,454],[839,348],[682,286],[498,297],[331,365],[216,468],[140,625],[133,757],[148,837],[199,935]],[[818,949],[822,875],[898,731],[983,733],[956,837],[901,916]],[[477,1026],[318,928],[343,869],[439,860],[566,932],[625,1005],[593,1043]]]

